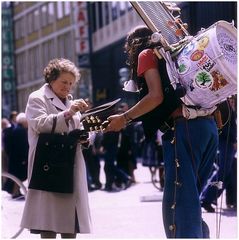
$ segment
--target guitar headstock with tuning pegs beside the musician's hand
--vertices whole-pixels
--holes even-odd
[[[101,132],[109,124],[109,121],[101,119],[97,115],[87,116],[81,122],[84,126],[84,130],[87,132]]]

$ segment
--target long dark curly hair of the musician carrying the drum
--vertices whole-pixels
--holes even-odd
[[[129,65],[132,71],[132,79],[136,80],[138,56],[144,49],[155,47],[155,44],[151,41],[151,35],[153,32],[145,25],[137,26],[130,31],[126,38],[125,52],[127,54],[126,64]]]

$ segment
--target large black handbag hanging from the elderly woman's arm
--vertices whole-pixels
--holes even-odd
[[[29,188],[73,193],[74,159],[77,141],[71,134],[54,133],[56,117],[51,133],[40,133]]]

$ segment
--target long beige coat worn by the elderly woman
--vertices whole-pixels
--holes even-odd
[[[53,116],[57,115],[55,132],[68,132],[82,128],[80,116],[66,125],[63,110],[68,109],[70,101],[64,105],[50,90],[48,84],[33,92],[28,99],[26,116],[28,119],[29,167],[31,178],[38,133],[50,132]],[[74,193],[52,193],[29,189],[21,226],[28,229],[50,230],[59,233],[74,233],[75,212],[77,212],[81,233],[91,232],[91,217],[88,204],[88,189],[85,162],[80,144],[77,146],[74,167]]]

